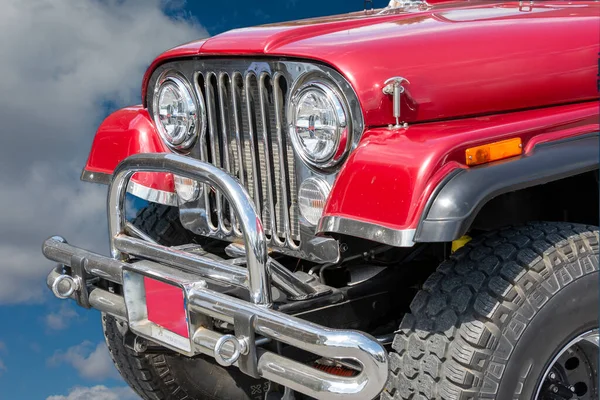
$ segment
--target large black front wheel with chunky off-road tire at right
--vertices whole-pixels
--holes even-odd
[[[382,399],[598,399],[598,228],[475,238],[426,281],[392,347]]]

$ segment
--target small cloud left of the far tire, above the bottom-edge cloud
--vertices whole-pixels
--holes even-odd
[[[61,364],[71,365],[77,370],[79,376],[91,380],[120,379],[104,342],[94,347],[93,343],[85,341],[69,347],[66,352],[56,351],[48,359],[47,364],[50,367],[58,367]]]

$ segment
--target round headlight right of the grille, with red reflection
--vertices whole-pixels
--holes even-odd
[[[348,117],[341,96],[322,82],[310,82],[293,96],[290,137],[309,164],[328,168],[344,155],[348,141]]]

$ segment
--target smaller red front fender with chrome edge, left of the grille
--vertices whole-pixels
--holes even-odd
[[[127,157],[169,152],[147,110],[126,107],[109,115],[98,128],[81,180],[108,184],[117,165]],[[144,200],[177,205],[172,174],[136,173],[128,191]]]

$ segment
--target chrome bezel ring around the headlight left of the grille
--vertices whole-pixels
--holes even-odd
[[[182,99],[187,103],[187,107],[190,110],[190,117],[195,121],[193,131],[186,132],[181,141],[173,142],[171,136],[166,132],[166,129],[160,120],[160,95],[167,85],[175,87],[180,92]],[[206,130],[204,99],[198,99],[198,95],[201,96],[202,94],[198,94],[193,90],[192,85],[185,76],[173,69],[163,71],[154,85],[152,94],[152,120],[154,121],[154,125],[156,126],[163,143],[171,150],[184,154],[187,153]]]

